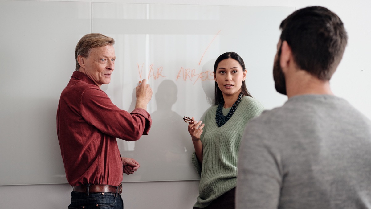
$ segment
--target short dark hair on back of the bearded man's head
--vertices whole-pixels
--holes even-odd
[[[298,68],[329,80],[347,45],[347,32],[340,18],[324,7],[306,7],[290,14],[280,29],[280,40],[287,41]]]

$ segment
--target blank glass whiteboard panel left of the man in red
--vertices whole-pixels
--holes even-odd
[[[0,185],[66,183],[56,111],[91,3],[0,1],[0,28]]]

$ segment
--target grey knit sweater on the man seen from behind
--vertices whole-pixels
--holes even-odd
[[[249,122],[238,209],[370,209],[371,121],[333,95],[298,95]]]

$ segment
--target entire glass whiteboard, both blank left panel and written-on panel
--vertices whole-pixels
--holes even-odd
[[[247,88],[267,108],[286,100],[274,90],[279,23],[293,7],[124,4],[0,0],[0,185],[67,183],[56,135],[59,96],[86,33],[116,40],[116,66],[102,89],[132,111],[134,88],[148,79],[152,128],[139,141],[118,139],[138,172],[124,182],[194,180],[183,116],[199,120],[213,99],[213,64],[234,51]]]

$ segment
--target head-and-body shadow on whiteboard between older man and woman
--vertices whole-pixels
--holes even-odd
[[[148,135],[135,141],[133,158],[141,164],[140,181],[199,179],[191,164],[194,150],[183,116],[171,110],[178,99],[174,81],[164,80],[154,94],[157,110],[151,113]]]

